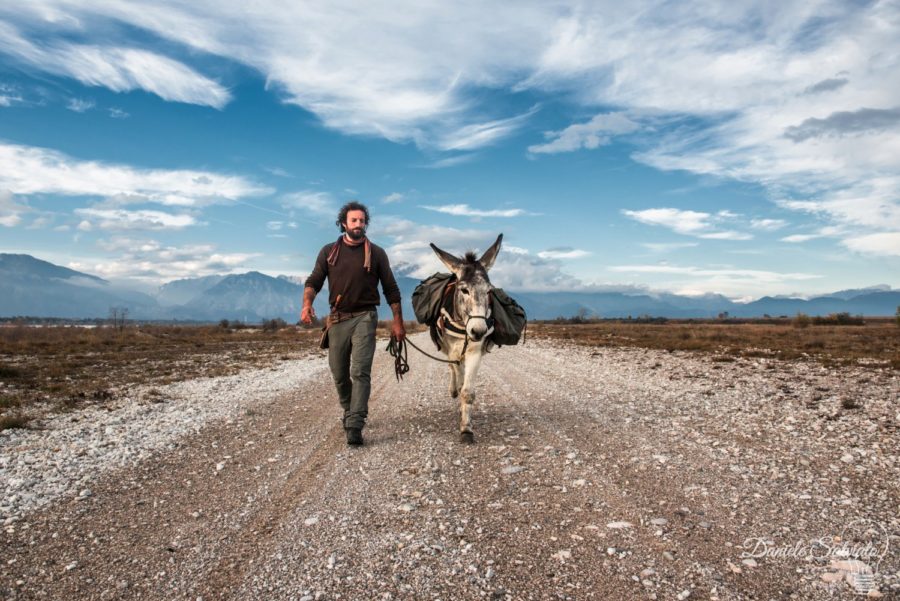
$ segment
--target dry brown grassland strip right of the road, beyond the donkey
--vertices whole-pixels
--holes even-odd
[[[722,323],[702,320],[582,324],[530,323],[528,334],[592,347],[639,347],[711,353],[715,361],[736,357],[813,359],[826,365],[900,369],[900,327],[892,319],[868,319],[861,326],[783,322]]]

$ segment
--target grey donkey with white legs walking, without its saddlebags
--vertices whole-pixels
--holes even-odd
[[[491,282],[487,272],[500,252],[503,234],[480,259],[468,252],[459,258],[431,245],[447,269],[456,276],[451,285],[452,300],[447,299],[436,328],[441,351],[450,363],[450,396],[459,397],[459,439],[475,442],[472,432],[472,411],[475,408],[475,376],[481,357],[493,346],[490,335],[494,331],[491,317]],[[448,296],[450,294],[448,293]]]

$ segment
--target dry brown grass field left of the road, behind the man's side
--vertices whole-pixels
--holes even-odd
[[[318,329],[294,327],[0,327],[0,428],[23,427],[27,415],[106,403],[123,387],[300,358],[318,352],[318,336]]]

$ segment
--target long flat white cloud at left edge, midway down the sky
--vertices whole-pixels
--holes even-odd
[[[272,191],[240,176],[84,161],[47,148],[3,142],[0,188],[20,195],[103,196],[117,204],[154,202],[195,207]]]

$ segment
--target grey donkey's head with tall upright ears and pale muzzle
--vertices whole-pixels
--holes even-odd
[[[455,317],[466,325],[466,333],[474,341],[481,340],[488,331],[487,320],[491,317],[491,281],[487,272],[493,266],[497,253],[500,252],[500,241],[487,249],[480,259],[475,253],[468,252],[459,258],[439,249],[434,244],[431,248],[447,269],[456,276],[456,291],[453,297]]]

